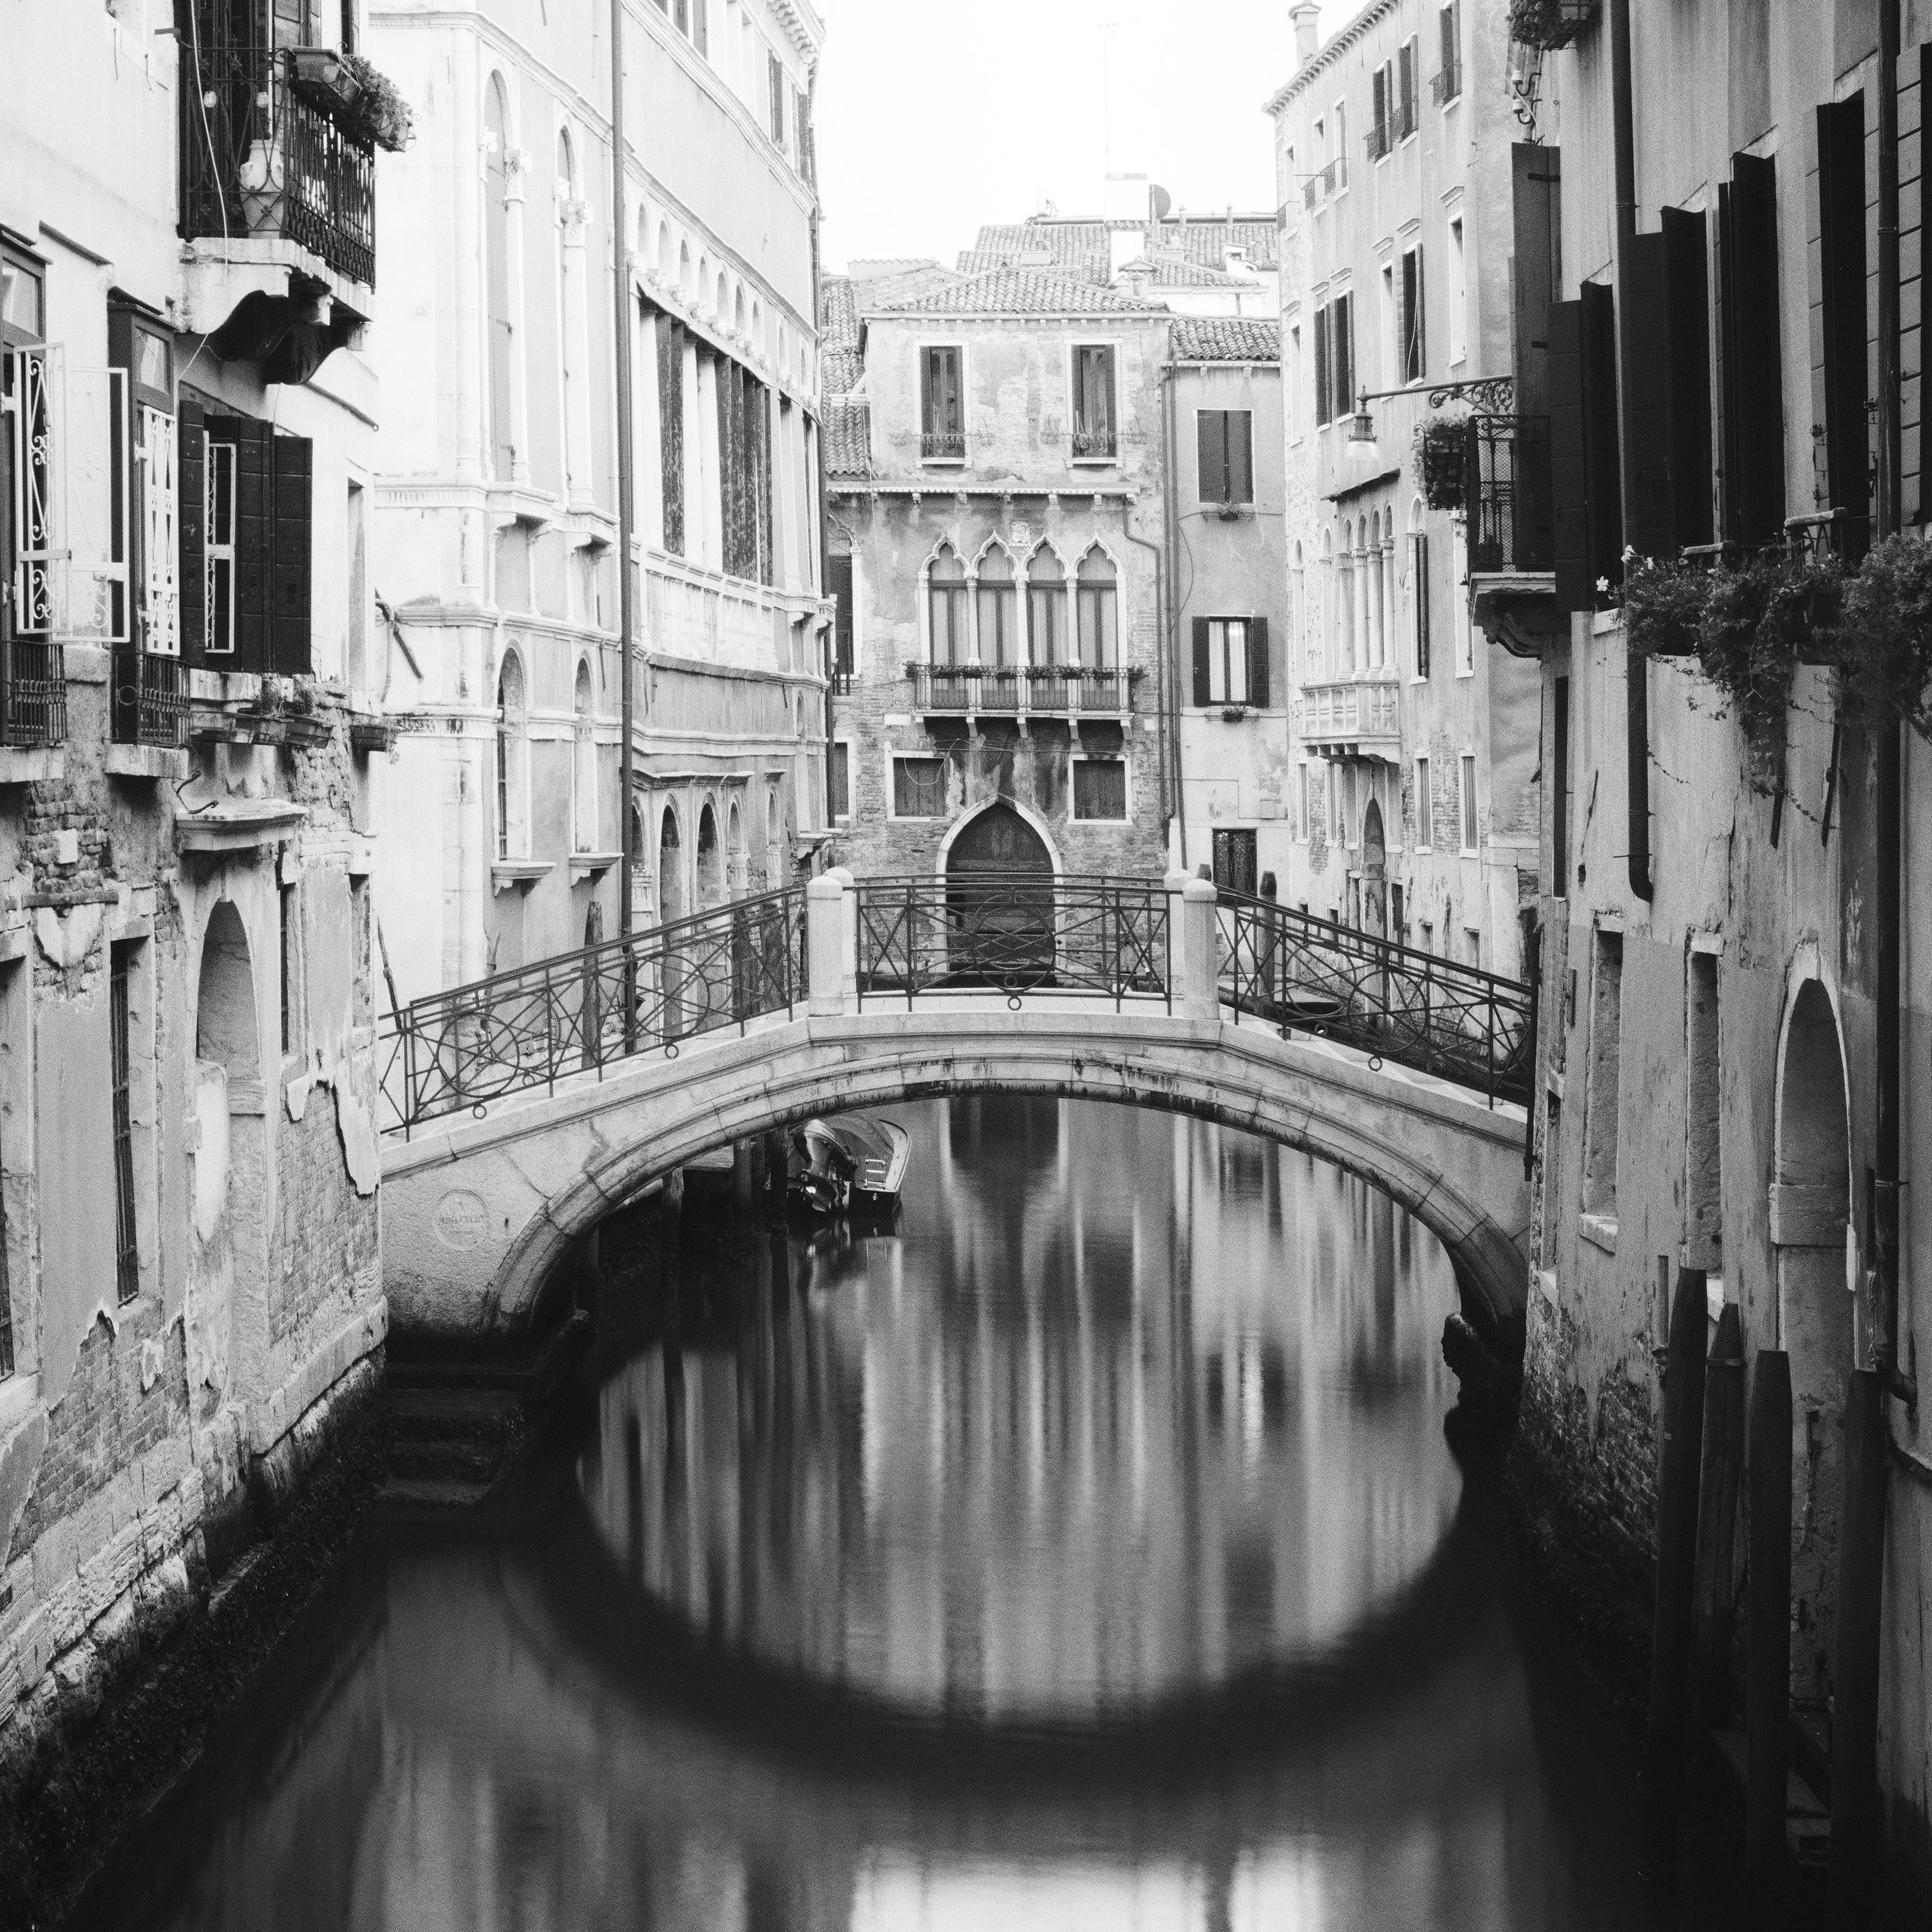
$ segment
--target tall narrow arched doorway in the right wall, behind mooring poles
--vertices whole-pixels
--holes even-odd
[[[1851,1136],[1845,1055],[1824,981],[1785,1009],[1777,1059],[1777,1335],[1791,1358],[1791,1694],[1832,1694],[1837,1532],[1845,1486]]]

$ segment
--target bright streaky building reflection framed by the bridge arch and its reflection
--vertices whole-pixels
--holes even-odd
[[[1175,1115],[900,1109],[891,1235],[775,1238],[734,1345],[603,1391],[612,1551],[759,1660],[960,1718],[1117,1716],[1320,1654],[1430,1561],[1447,1256]]]

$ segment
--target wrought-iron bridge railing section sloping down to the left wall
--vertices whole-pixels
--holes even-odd
[[[732,900],[412,1001],[383,1030],[383,1126],[554,1088],[806,999],[806,896]]]

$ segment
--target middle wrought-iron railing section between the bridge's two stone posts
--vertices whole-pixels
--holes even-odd
[[[858,1003],[995,989],[1128,995],[1173,1009],[1159,879],[954,871],[860,879]]]

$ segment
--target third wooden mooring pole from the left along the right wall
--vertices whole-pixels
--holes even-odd
[[[1745,1660],[1745,1876],[1766,1886],[1785,1862],[1791,1776],[1791,1358],[1750,1366],[1750,1586]]]

